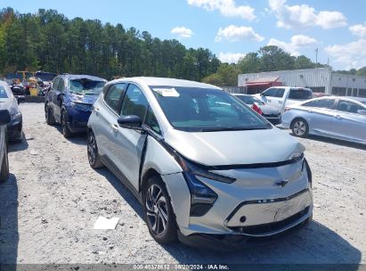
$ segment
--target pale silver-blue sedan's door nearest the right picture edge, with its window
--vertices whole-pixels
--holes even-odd
[[[366,116],[357,111],[364,108],[354,102],[339,99],[333,118],[334,132],[351,141],[366,142]]]

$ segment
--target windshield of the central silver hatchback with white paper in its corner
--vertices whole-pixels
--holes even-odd
[[[270,128],[264,119],[222,90],[150,86],[170,124],[188,132]]]

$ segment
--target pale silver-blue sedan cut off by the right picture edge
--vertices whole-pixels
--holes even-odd
[[[282,126],[294,136],[309,134],[366,144],[366,98],[321,97],[291,105]]]

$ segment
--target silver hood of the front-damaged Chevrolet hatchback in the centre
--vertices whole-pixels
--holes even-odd
[[[305,151],[297,139],[276,127],[204,133],[170,128],[165,141],[185,158],[207,166],[279,162]]]

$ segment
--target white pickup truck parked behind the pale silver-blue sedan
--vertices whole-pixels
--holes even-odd
[[[266,105],[277,108],[283,112],[285,107],[295,103],[301,103],[313,98],[310,88],[291,86],[272,86],[261,94],[256,94]]]

